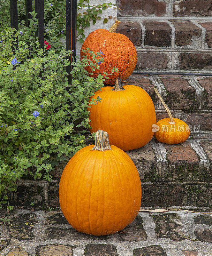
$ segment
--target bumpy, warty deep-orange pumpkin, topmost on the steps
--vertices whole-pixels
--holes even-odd
[[[130,39],[125,35],[114,32],[119,23],[120,21],[116,20],[109,30],[99,28],[91,32],[81,47],[81,56],[85,54],[82,50],[86,50],[87,48],[94,52],[101,51],[104,54],[102,55],[104,61],[99,65],[100,69],[92,72],[93,77],[96,78],[98,74],[105,76],[103,71],[110,74],[113,67],[118,68],[119,72],[109,75],[109,79],[105,79],[104,84],[115,84],[117,77],[126,79],[132,74],[137,61],[135,46]],[[92,60],[92,56],[90,58]],[[91,67],[87,66],[86,70],[90,73]]]

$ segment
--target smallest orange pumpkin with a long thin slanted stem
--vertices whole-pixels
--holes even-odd
[[[159,126],[159,130],[154,134],[156,140],[170,145],[184,142],[190,135],[189,126],[184,121],[172,117],[160,93],[156,88],[154,89],[169,115],[169,118],[163,118],[156,123]]]

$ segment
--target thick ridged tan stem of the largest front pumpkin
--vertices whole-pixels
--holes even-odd
[[[107,132],[102,130],[98,130],[96,132],[95,146],[92,148],[92,150],[111,150]]]

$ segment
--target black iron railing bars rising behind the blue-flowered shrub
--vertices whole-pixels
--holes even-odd
[[[34,3],[33,3],[34,2]],[[32,19],[32,5],[35,4],[36,18],[38,19],[38,29],[35,36],[38,37],[39,47],[44,49],[44,0],[25,0],[26,5],[26,26],[29,26],[29,19]],[[18,4],[17,0],[10,0],[10,17],[11,27],[18,30]],[[77,0],[66,0],[66,50],[74,50],[69,56],[70,62],[76,56],[76,37],[77,37]],[[17,38],[18,46],[18,38]],[[70,72],[72,66],[66,67],[68,75],[68,83],[71,84],[72,76]]]

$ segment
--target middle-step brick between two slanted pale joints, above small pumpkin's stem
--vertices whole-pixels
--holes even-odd
[[[188,83],[187,79],[181,77],[161,77],[168,94],[163,100],[169,108],[189,109],[199,108],[195,101],[195,89]]]

